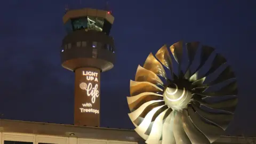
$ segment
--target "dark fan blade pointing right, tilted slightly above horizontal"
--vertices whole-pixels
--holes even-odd
[[[226,85],[225,87],[222,87],[222,89],[220,89],[217,92],[203,92],[203,93],[196,93],[199,95],[203,95],[205,97],[221,97],[221,96],[226,96],[226,95],[237,95],[238,90],[237,90],[237,82],[232,82],[228,85]]]

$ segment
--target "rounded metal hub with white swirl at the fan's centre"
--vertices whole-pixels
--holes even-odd
[[[186,87],[171,83],[163,93],[165,104],[174,110],[186,108],[191,100],[191,93]]]

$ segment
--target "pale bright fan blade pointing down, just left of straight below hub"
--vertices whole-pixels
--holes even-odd
[[[174,123],[174,113],[173,113],[173,111],[171,111],[171,114],[169,114],[164,121],[162,144],[175,144],[176,143],[174,134],[173,134],[173,123]]]

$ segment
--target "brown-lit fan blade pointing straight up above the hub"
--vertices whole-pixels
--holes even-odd
[[[182,53],[183,53],[182,41],[179,41],[171,45],[170,50],[172,52],[174,59],[177,61],[177,63],[181,63]]]

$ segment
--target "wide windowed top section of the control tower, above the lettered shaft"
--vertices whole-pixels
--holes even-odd
[[[115,46],[109,36],[114,17],[108,11],[69,10],[63,17],[67,35],[62,41],[62,66],[71,71],[94,67],[101,71],[113,68]]]

